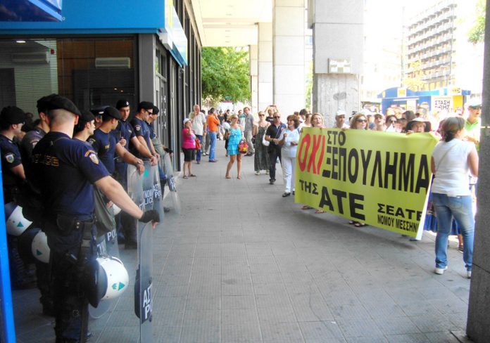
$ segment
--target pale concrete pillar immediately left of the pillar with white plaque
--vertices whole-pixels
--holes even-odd
[[[274,103],[284,120],[305,107],[305,1],[276,0],[272,13]]]

